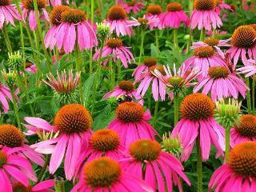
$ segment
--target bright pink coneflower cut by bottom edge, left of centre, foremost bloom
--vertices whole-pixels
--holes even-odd
[[[124,167],[111,158],[96,158],[82,169],[78,184],[70,192],[137,191],[153,192],[142,179],[126,173]]]

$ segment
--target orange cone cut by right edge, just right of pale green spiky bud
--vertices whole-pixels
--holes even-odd
[[[244,114],[239,120],[239,124],[234,126],[244,137],[255,138],[256,137],[256,116],[250,114]]]

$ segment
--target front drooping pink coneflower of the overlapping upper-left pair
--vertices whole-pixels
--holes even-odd
[[[79,50],[91,49],[98,44],[96,34],[86,21],[86,14],[82,10],[69,9],[61,14],[62,23],[56,34],[58,50],[62,47],[66,54],[74,50],[78,43]]]

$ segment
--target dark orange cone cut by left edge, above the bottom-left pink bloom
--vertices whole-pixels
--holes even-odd
[[[22,146],[24,137],[21,130],[12,125],[0,126],[0,146],[8,146],[10,148]]]

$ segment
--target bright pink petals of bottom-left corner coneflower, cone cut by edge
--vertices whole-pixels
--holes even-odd
[[[0,191],[12,191],[13,180],[21,182],[24,186],[30,184],[29,179],[37,181],[30,162],[14,154],[15,152],[6,146],[0,150]]]

